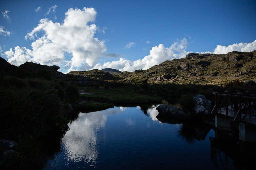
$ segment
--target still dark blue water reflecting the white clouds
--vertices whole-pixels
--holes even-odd
[[[51,156],[45,169],[236,169],[248,166],[241,163],[244,158],[239,154],[241,144],[234,136],[218,134],[198,123],[162,123],[157,115],[155,105],[80,113],[69,123],[70,129],[61,139],[59,151]]]

